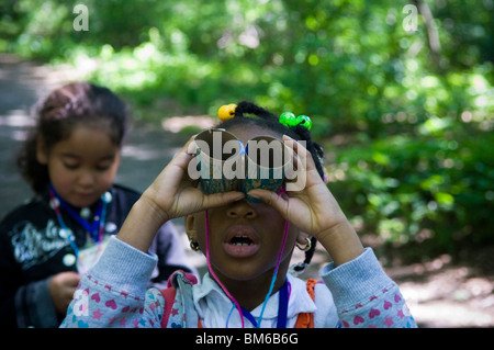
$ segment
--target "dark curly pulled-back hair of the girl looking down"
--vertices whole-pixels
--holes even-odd
[[[48,169],[37,161],[37,142],[49,150],[67,139],[76,125],[103,129],[111,140],[122,146],[128,129],[125,103],[109,89],[88,82],[74,82],[52,91],[33,108],[36,124],[18,155],[18,167],[36,193],[49,183]]]

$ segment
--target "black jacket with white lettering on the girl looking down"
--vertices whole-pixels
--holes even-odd
[[[139,193],[113,185],[108,204],[104,236],[116,235]],[[94,210],[94,208],[92,208]],[[74,233],[79,249],[91,246],[85,228],[64,208],[61,216]],[[10,212],[0,223],[0,326],[58,327],[65,315],[57,315],[48,292],[54,274],[76,271],[76,253],[49,204],[48,190]],[[166,223],[149,249],[158,266],[149,286],[165,287],[177,269],[192,272],[172,223]]]

